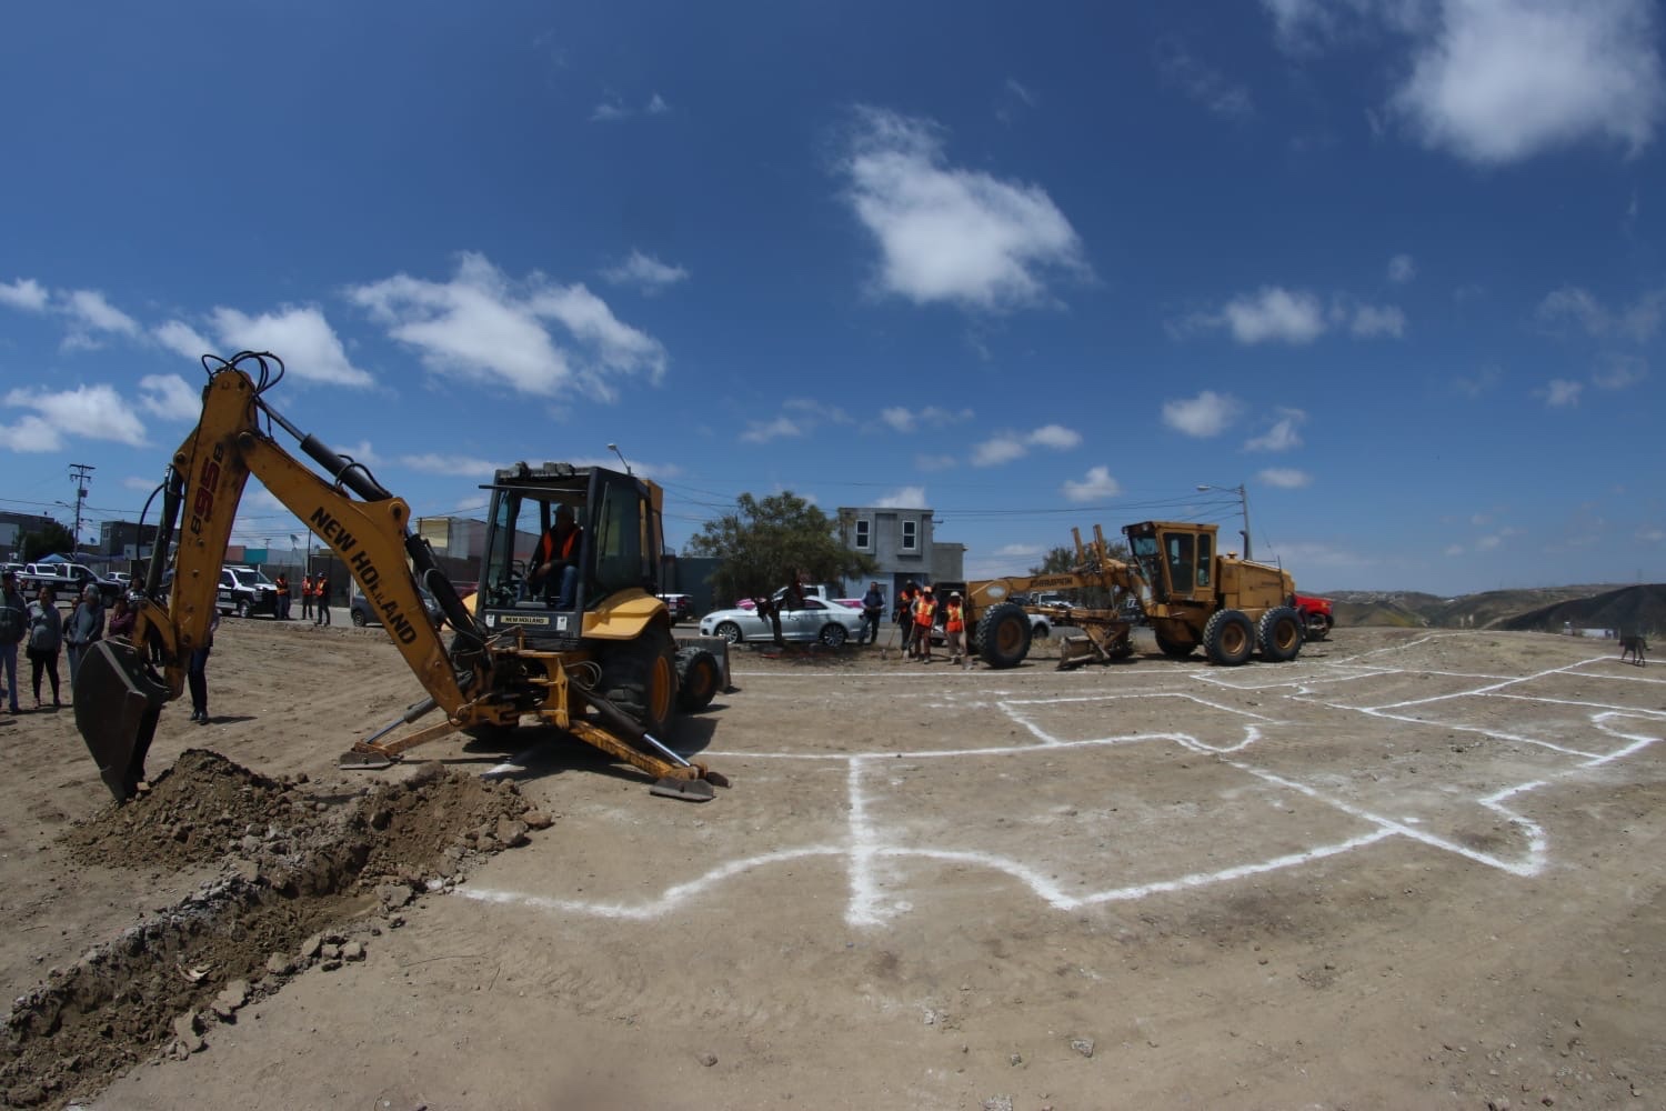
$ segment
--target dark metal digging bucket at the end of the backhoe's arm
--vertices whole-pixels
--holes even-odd
[[[98,776],[125,803],[145,778],[145,755],[168,701],[142,650],[125,640],[93,641],[75,670],[75,728],[98,765]]]

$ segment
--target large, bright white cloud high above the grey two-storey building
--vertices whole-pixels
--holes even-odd
[[[886,293],[1006,311],[1045,303],[1053,273],[1090,273],[1075,228],[1041,187],[946,165],[940,128],[926,120],[861,110],[841,172],[880,247]]]

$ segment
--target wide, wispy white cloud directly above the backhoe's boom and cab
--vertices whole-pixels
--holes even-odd
[[[601,400],[613,381],[646,373],[658,380],[666,355],[658,340],[621,323],[583,285],[560,286],[533,273],[511,283],[483,255],[465,253],[450,281],[397,275],[348,290],[355,305],[418,351],[438,375],[488,381],[550,396],[580,386]],[[546,321],[561,325],[556,345]]]

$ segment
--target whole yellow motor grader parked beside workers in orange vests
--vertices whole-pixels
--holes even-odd
[[[1246,663],[1258,650],[1269,663],[1301,653],[1303,618],[1294,608],[1296,583],[1288,571],[1216,551],[1215,525],[1141,521],[1123,528],[1133,563],[1110,555],[1105,533],[1093,526],[1083,543],[1071,530],[1076,565],[1058,575],[935,583],[960,590],[971,651],[991,668],[1013,668],[1030,655],[1031,613],[1081,628],[1061,643],[1060,666],[1110,663],[1133,651],[1133,620],[1145,618],[1163,655],[1185,660],[1200,646],[1218,665]],[[1108,591],[1110,606],[1035,605],[1036,591]],[[1021,601],[1020,601],[1021,600]]]

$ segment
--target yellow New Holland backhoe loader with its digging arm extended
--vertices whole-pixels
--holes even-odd
[[[415,745],[455,731],[485,735],[520,723],[551,725],[655,778],[651,790],[703,801],[726,780],[660,738],[676,710],[711,701],[726,660],[676,650],[660,571],[661,491],[601,466],[566,463],[500,470],[491,491],[480,590],[465,603],[412,533],[410,508],[363,463],[337,455],[277,413],[265,395],[283,376],[270,353],[203,356],[202,420],[162,485],[162,521],[132,638],[105,638],[82,661],[75,725],[117,800],[145,776],[162,706],[180,696],[192,651],[205,643],[220,566],[250,475],[307,523],[377,608],[405,663],[428,691],[398,720],[357,743],[345,766],[387,766]],[[255,376],[250,375],[255,371]],[[275,373],[273,373],[275,371]],[[288,455],[277,425],[327,476]],[[558,513],[580,526],[570,596],[526,561]],[[162,578],[172,553],[173,580]],[[421,590],[453,630],[450,646],[428,618]],[[431,710],[445,720],[382,740]]]

